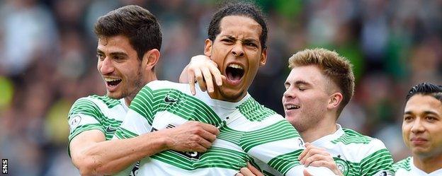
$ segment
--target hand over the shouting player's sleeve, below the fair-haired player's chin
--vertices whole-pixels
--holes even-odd
[[[324,148],[313,146],[311,143],[305,143],[305,150],[299,156],[300,163],[305,167],[312,165],[316,167],[329,168],[336,175],[342,175],[341,171],[336,166],[336,163],[331,157],[330,153]],[[304,175],[307,171],[304,171]],[[310,173],[307,172],[310,175]]]

